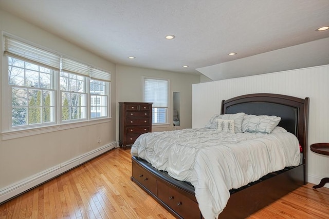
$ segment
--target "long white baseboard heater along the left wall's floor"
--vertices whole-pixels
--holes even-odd
[[[89,160],[92,160],[96,156],[98,156],[108,150],[111,150],[115,147],[116,147],[116,143],[113,142],[111,144],[105,145],[96,150],[85,153],[79,157],[72,158],[69,161],[66,161],[62,164],[51,167],[51,168],[49,168],[45,171],[42,171],[40,173],[37,173],[31,177],[25,178],[24,180],[22,180],[20,182],[9,185],[9,186],[3,188],[2,190],[0,190],[0,203],[3,203],[16,195],[19,195],[35,186],[38,186],[38,185],[50,180],[53,177],[56,177],[72,168],[75,168]]]

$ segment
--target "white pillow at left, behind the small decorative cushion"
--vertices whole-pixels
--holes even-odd
[[[241,133],[241,125],[244,115],[244,112],[239,112],[235,114],[214,114],[206,124],[206,128],[216,129],[217,119],[222,118],[223,120],[234,120],[234,132]]]

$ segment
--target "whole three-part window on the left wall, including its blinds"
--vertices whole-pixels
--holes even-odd
[[[4,39],[4,131],[109,117],[111,74],[11,36]]]

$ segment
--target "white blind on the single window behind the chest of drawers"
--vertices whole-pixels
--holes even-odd
[[[152,107],[168,107],[168,80],[145,78],[144,101],[153,103]]]

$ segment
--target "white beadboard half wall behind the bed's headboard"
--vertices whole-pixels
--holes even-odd
[[[223,99],[250,93],[309,97],[308,146],[329,142],[329,65],[193,85],[192,127],[204,127],[211,115],[220,113]],[[328,156],[308,147],[307,169],[308,182],[318,184],[329,176]]]

